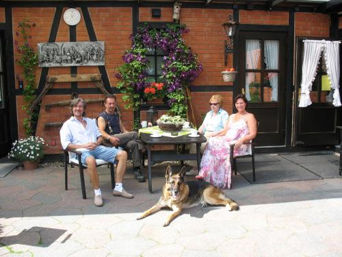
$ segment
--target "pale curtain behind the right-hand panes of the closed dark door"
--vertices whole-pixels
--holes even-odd
[[[267,69],[278,69],[279,44],[278,40],[265,40],[265,62]],[[269,76],[272,86],[272,101],[278,101],[278,76]]]

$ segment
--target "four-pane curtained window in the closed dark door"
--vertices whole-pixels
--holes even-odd
[[[279,73],[279,41],[246,40],[245,95],[248,101],[278,101]]]

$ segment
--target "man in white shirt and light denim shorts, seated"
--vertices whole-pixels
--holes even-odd
[[[82,151],[81,162],[88,167],[88,175],[95,193],[95,206],[103,206],[101,189],[98,186],[98,173],[95,159],[102,159],[107,162],[115,162],[118,160],[113,195],[133,198],[133,195],[124,191],[122,187],[122,178],[126,171],[127,152],[100,145],[103,138],[95,122],[92,119],[84,117],[86,115],[84,112],[86,107],[86,102],[81,98],[71,101],[70,109],[72,117],[63,124],[60,130],[63,149],[78,149],[78,151]]]

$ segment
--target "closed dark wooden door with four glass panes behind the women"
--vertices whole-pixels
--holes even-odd
[[[259,146],[285,145],[286,39],[282,32],[240,32],[239,81],[248,112],[260,122]]]

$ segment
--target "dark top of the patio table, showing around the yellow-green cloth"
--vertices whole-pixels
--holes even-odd
[[[190,143],[205,143],[207,138],[198,133],[198,137],[193,138],[189,135],[176,136],[174,138],[168,136],[161,136],[160,138],[153,138],[151,134],[140,133],[140,139],[147,145],[177,145],[177,144],[190,144]]]

